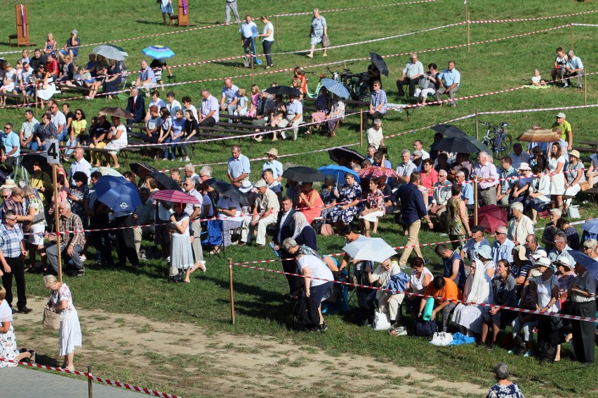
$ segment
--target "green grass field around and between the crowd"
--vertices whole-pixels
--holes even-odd
[[[545,15],[560,15],[591,11],[596,8],[594,3],[577,3],[573,1],[557,0],[550,4],[539,0],[473,0],[468,2],[471,20],[502,19],[502,18],[531,18]],[[0,51],[15,50],[4,42],[8,34],[13,34],[14,1],[0,0],[4,7],[0,8],[0,17],[5,22],[1,29]],[[241,1],[239,11],[241,15],[251,13],[255,18],[259,15],[273,15],[275,13],[293,13],[310,11],[318,6],[326,8],[368,6],[369,1],[354,0],[322,4],[317,1],[271,1],[255,0],[250,5]],[[201,8],[192,3],[190,21],[196,25],[211,25],[216,21],[224,21],[223,1],[209,0],[201,2]],[[329,36],[333,46],[377,39],[385,36],[416,32],[442,25],[460,22],[465,19],[463,2],[440,0],[430,4],[413,4],[405,6],[389,6],[371,8],[367,10],[343,11],[337,13],[323,13],[328,21]],[[41,46],[48,32],[52,32],[58,43],[62,45],[72,29],[79,30],[83,43],[124,39],[145,34],[171,32],[178,28],[161,25],[159,7],[155,1],[105,0],[97,2],[77,3],[65,0],[52,2],[32,1],[29,3],[30,34],[32,41]],[[540,29],[557,27],[574,23],[597,23],[598,13],[580,15],[570,18],[557,18],[532,22],[510,22],[501,24],[472,25],[470,41],[484,41],[515,34],[534,32]],[[272,22],[275,22],[272,20]],[[277,30],[278,41],[274,44],[273,52],[305,50],[309,48],[307,35],[310,31],[310,16],[279,17]],[[258,23],[258,26],[261,24]],[[181,28],[182,29],[182,28]],[[573,43],[576,55],[580,56],[587,72],[598,71],[598,46],[595,42],[595,27],[573,27]],[[183,64],[200,60],[212,60],[220,57],[232,57],[241,54],[239,46],[238,27],[216,27],[188,33],[169,34],[148,39],[117,42],[131,55],[126,64],[134,70],[142,60],[141,49],[152,44],[169,46],[177,55],[169,64]],[[303,67],[322,64],[324,62],[340,62],[331,66],[333,70],[345,67],[343,60],[368,57],[370,51],[380,55],[406,53],[432,48],[457,46],[467,43],[467,27],[461,25],[434,32],[413,34],[400,39],[377,41],[365,45],[347,46],[331,49],[328,57],[322,58],[320,53],[313,60],[302,54],[273,55],[274,69],[284,69],[300,65]],[[457,69],[462,76],[462,84],[458,95],[475,95],[497,90],[515,88],[530,81],[533,69],[540,69],[547,80],[550,79],[550,69],[554,61],[554,49],[558,46],[569,49],[571,47],[571,30],[569,27],[552,30],[550,32],[531,34],[517,39],[507,39],[493,43],[484,43],[467,48],[438,50],[430,53],[420,53],[423,64],[435,62],[439,68],[446,67],[449,60],[455,60]],[[260,47],[260,46],[258,46]],[[86,60],[91,48],[82,48],[79,62]],[[258,48],[258,51],[260,48]],[[6,58],[14,63],[17,55],[7,55]],[[386,62],[390,75],[383,78],[383,88],[387,90],[390,102],[402,102],[397,96],[394,81],[400,76],[401,69],[408,61],[408,56],[389,57]],[[353,71],[365,71],[368,61],[347,62],[346,67]],[[325,67],[308,69],[315,75],[309,75],[311,89],[317,85],[317,74],[327,73]],[[265,69],[256,69],[262,72]],[[225,78],[247,74],[242,68],[241,60],[213,62],[194,67],[173,69],[179,82],[206,78]],[[291,82],[292,74],[281,72],[255,76],[255,83],[265,88],[272,81],[279,84]],[[239,87],[249,89],[251,76],[236,78]],[[598,102],[596,76],[587,77],[587,104]],[[183,95],[190,95],[195,104],[199,104],[201,88],[208,88],[219,95],[222,81],[210,81],[201,84],[178,85],[173,90],[180,99]],[[170,90],[170,89],[167,89]],[[166,92],[166,91],[164,91]],[[60,96],[59,96],[60,97]],[[165,97],[165,95],[163,95]],[[92,115],[105,106],[124,107],[126,102],[114,99],[95,101],[69,101],[72,109],[81,107],[86,114]],[[562,90],[549,88],[547,90],[516,90],[502,94],[491,95],[458,102],[458,107],[426,107],[411,112],[410,121],[406,121],[404,114],[390,113],[384,121],[385,135],[398,132],[408,132],[426,125],[433,125],[443,121],[458,118],[475,111],[500,111],[514,109],[540,109],[546,107],[568,107],[585,104],[584,92],[576,88]],[[15,125],[22,122],[22,110],[3,109],[0,111],[4,121],[12,121]],[[595,109],[576,109],[564,111],[567,121],[573,126],[574,142],[580,139],[595,139],[595,126],[598,124],[598,112]],[[493,115],[480,117],[481,121],[499,123],[507,121],[510,133],[517,137],[521,132],[531,128],[533,124],[548,127],[554,121],[556,111],[543,111],[521,114]],[[474,134],[474,118],[455,123],[458,127]],[[303,137],[298,142],[277,142],[279,153],[310,152],[331,146],[352,144],[359,142],[359,120],[347,118],[335,138],[313,137],[309,141]],[[413,140],[423,139],[425,146],[432,142],[432,130],[418,131],[416,134],[401,135],[387,139],[391,160],[397,163],[400,150],[411,149]],[[229,143],[237,142],[231,140]],[[246,140],[243,152],[249,158],[262,156],[270,149],[270,142],[253,143]],[[365,151],[365,149],[363,149]],[[221,162],[229,156],[229,150],[222,150],[219,142],[206,143],[196,150],[192,159],[194,164]],[[130,161],[139,160],[132,155]],[[326,152],[314,152],[303,156],[291,156],[282,160],[283,163],[295,165],[320,166],[330,163]],[[253,170],[261,168],[261,162],[252,163]],[[181,163],[155,162],[156,167],[180,167]],[[215,177],[225,177],[225,167],[214,168]],[[252,177],[257,176],[257,172]],[[255,179],[255,178],[253,178]],[[581,197],[581,200],[587,198]],[[582,206],[582,217],[596,216],[598,212],[590,205]],[[540,223],[543,224],[543,223]],[[383,221],[380,226],[380,237],[385,238],[391,245],[404,245],[406,237],[399,231],[396,224]],[[437,242],[444,240],[437,233],[423,231],[420,242]],[[322,253],[339,252],[344,244],[339,237],[319,238]],[[432,261],[432,268],[438,271],[441,262],[432,252],[432,248],[423,248],[426,259]],[[252,261],[271,259],[270,249],[231,247],[227,249],[227,256],[234,261]],[[91,256],[90,256],[91,257]],[[539,364],[534,359],[512,357],[506,350],[496,349],[492,352],[479,352],[472,346],[453,348],[435,348],[427,341],[418,338],[389,338],[387,334],[374,332],[371,329],[359,329],[351,324],[350,319],[339,316],[328,317],[330,329],[326,334],[294,334],[288,329],[288,313],[291,307],[281,303],[286,291],[286,280],[282,275],[265,273],[246,268],[234,268],[235,297],[237,308],[237,323],[233,327],[229,316],[228,270],[225,261],[210,259],[208,273],[194,275],[190,285],[166,284],[164,277],[165,265],[162,261],[150,261],[140,273],[130,270],[99,269],[88,266],[84,278],[68,280],[74,291],[76,305],[81,308],[98,308],[114,313],[131,313],[145,315],[155,320],[176,320],[193,322],[206,327],[210,332],[226,331],[232,334],[272,335],[281,340],[293,341],[298,345],[313,345],[328,352],[343,350],[354,355],[371,355],[377,359],[391,360],[395,364],[416,366],[423,371],[446,380],[467,380],[480,385],[493,383],[489,370],[496,362],[509,364],[512,373],[517,377],[526,395],[544,395],[576,397],[598,396],[595,380],[598,376],[594,367],[582,368],[578,363],[566,359],[569,348],[564,345],[564,359],[552,365]],[[266,268],[281,269],[279,263],[265,264]],[[28,293],[30,295],[45,296],[46,291],[41,287],[40,277],[27,276]],[[92,364],[93,365],[93,364]],[[114,369],[118,374],[118,369]],[[102,375],[110,378],[110,374]],[[137,380],[126,380],[135,383]],[[151,387],[148,385],[147,387]],[[202,392],[178,390],[180,387],[169,385],[169,392],[178,392],[185,396],[202,396]]]

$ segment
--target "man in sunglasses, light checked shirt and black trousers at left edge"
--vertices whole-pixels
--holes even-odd
[[[25,296],[25,267],[23,257],[27,250],[23,244],[23,233],[17,224],[17,214],[13,210],[4,212],[4,224],[0,225],[0,265],[2,285],[6,289],[6,302],[11,306],[13,302],[13,275],[17,282],[17,308],[13,313],[30,313]],[[12,306],[11,306],[12,308]]]

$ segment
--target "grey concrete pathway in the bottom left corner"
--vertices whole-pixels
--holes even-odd
[[[79,369],[77,369],[79,370]],[[2,397],[11,398],[88,398],[88,383],[83,376],[77,378],[61,376],[59,373],[37,371],[16,366],[0,369]],[[141,392],[93,383],[93,396],[101,398],[151,397]]]

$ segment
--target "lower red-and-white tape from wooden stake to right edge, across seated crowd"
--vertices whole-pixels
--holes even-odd
[[[432,245],[434,245],[434,244],[432,244]],[[549,316],[549,317],[564,318],[564,319],[567,319],[567,320],[577,320],[577,321],[594,322],[594,323],[598,322],[598,319],[597,318],[593,318],[593,317],[579,317],[577,315],[566,315],[566,314],[561,314],[561,313],[550,313],[550,312],[543,313],[542,311],[538,311],[538,310],[526,310],[524,308],[517,308],[517,307],[495,306],[493,304],[486,304],[486,303],[472,303],[472,302],[463,301],[463,300],[445,299],[444,297],[428,296],[426,294],[418,294],[418,293],[413,293],[411,291],[392,290],[392,289],[386,289],[384,287],[368,286],[368,285],[365,285],[365,284],[357,284],[357,283],[351,283],[351,282],[340,282],[338,280],[329,280],[329,279],[326,279],[326,278],[323,278],[323,277],[309,277],[309,276],[305,276],[305,275],[302,275],[302,274],[287,273],[287,272],[281,271],[281,270],[272,270],[270,268],[250,266],[250,265],[247,265],[247,264],[249,264],[249,262],[246,262],[246,261],[241,262],[241,263],[232,263],[232,265],[234,265],[234,266],[239,266],[239,267],[243,267],[243,268],[249,268],[249,269],[253,269],[253,270],[261,270],[261,271],[270,272],[270,273],[277,273],[277,274],[281,274],[281,275],[291,275],[291,276],[303,277],[303,278],[307,278],[307,279],[323,280],[324,282],[333,282],[333,283],[336,283],[336,284],[343,284],[345,286],[359,287],[359,288],[362,288],[362,289],[372,289],[372,290],[388,291],[389,293],[392,293],[392,294],[405,294],[406,296],[422,297],[423,299],[439,299],[439,300],[442,300],[442,301],[449,301],[451,303],[462,303],[462,304],[465,304],[467,306],[479,306],[479,307],[486,307],[486,308],[498,308],[500,310],[510,310],[510,311],[515,311],[517,313],[528,313],[528,314],[535,314],[535,315],[545,315],[545,316]]]

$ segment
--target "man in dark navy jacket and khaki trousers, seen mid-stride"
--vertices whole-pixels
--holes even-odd
[[[401,259],[399,259],[399,266],[404,266],[409,259],[409,255],[416,249],[418,257],[423,259],[422,252],[420,250],[420,226],[422,224],[421,219],[427,221],[427,226],[430,230],[434,228],[434,224],[430,220],[430,216],[427,215],[426,205],[423,201],[423,195],[418,189],[418,185],[422,180],[422,174],[420,172],[411,173],[408,184],[403,184],[397,189],[397,198],[401,199],[401,223],[403,228],[408,231],[408,240]]]

